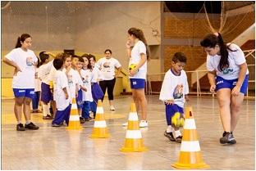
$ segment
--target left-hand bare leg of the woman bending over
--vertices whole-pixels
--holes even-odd
[[[231,132],[231,89],[219,89],[217,91],[217,101],[220,108],[223,129],[226,132]]]

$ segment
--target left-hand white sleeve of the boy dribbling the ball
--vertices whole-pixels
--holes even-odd
[[[173,95],[170,90],[171,90],[171,77],[170,77],[169,72],[167,72],[164,75],[159,100],[167,101],[167,100],[173,99]]]

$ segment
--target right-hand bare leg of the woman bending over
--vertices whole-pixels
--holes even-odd
[[[240,107],[242,106],[242,103],[244,101],[244,93],[239,94],[239,96],[231,96],[231,132],[235,130],[235,126],[237,124],[237,121],[239,119],[240,115]]]

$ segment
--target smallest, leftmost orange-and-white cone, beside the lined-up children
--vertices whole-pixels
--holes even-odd
[[[75,102],[75,98],[72,99],[72,105],[71,105],[71,115],[68,123],[67,129],[81,129],[80,119],[77,112],[77,106]]]

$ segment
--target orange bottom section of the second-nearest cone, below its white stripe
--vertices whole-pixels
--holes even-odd
[[[126,138],[125,146],[120,149],[123,152],[141,152],[149,151],[147,147],[143,145],[143,140],[141,138]]]

